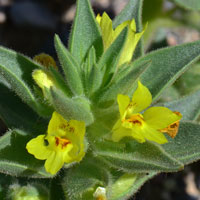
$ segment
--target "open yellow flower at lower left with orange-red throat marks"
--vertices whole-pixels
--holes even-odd
[[[35,158],[45,161],[45,169],[56,174],[64,163],[79,162],[85,155],[85,123],[70,120],[67,122],[54,112],[46,135],[30,140],[26,149]]]

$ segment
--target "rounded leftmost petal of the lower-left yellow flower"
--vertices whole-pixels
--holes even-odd
[[[30,140],[26,149],[30,154],[33,154],[35,158],[39,160],[45,160],[51,154],[51,150],[47,148],[44,141],[45,135],[39,135],[38,137]]]

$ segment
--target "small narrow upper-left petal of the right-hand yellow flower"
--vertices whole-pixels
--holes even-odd
[[[118,94],[117,102],[119,105],[119,112],[120,112],[121,119],[123,119],[125,117],[124,116],[125,111],[130,103],[130,98],[127,95]]]

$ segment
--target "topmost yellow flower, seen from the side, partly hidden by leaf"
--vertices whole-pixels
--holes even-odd
[[[103,13],[102,17],[100,15],[97,15],[96,20],[101,28],[104,50],[106,50],[119,36],[121,31],[128,26],[127,40],[124,45],[118,65],[130,62],[133,57],[133,52],[137,46],[137,43],[143,35],[144,31],[142,31],[141,33],[136,33],[136,24],[134,19],[123,22],[122,24],[117,26],[116,29],[113,30],[112,20],[105,12]]]

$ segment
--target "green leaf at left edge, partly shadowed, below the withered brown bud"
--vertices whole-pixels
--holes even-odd
[[[37,100],[30,88],[33,85],[32,72],[38,68],[40,66],[29,58],[0,47],[0,74],[24,102],[38,114],[48,116],[47,108]]]

